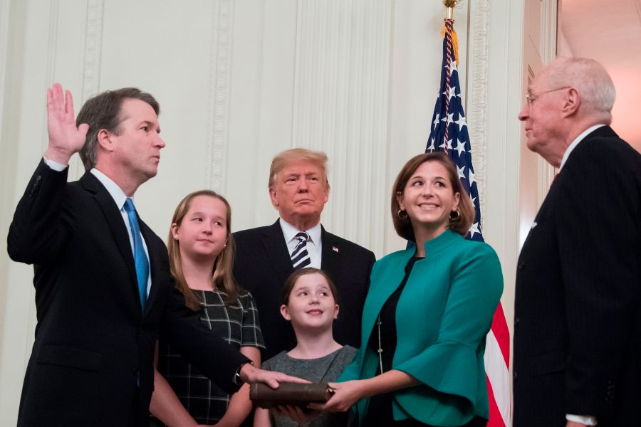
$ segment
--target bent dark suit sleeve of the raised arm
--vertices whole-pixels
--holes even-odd
[[[7,236],[7,251],[21,263],[46,263],[71,232],[63,213],[68,168],[57,172],[41,161],[20,199]],[[69,213],[66,213],[67,215]]]

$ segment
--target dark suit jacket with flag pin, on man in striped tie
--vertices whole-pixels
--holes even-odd
[[[375,261],[372,251],[334,236],[322,229],[320,267],[338,288],[340,312],[334,321],[334,339],[340,344],[360,347],[360,319]],[[287,243],[280,223],[234,233],[236,260],[234,275],[239,285],[254,295],[261,317],[266,350],[263,359],[296,346],[288,321],[281,316],[281,291],[293,272]]]

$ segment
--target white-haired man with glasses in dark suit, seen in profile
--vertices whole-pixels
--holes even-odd
[[[516,273],[514,426],[641,426],[641,156],[602,65],[559,58],[519,120],[559,169]]]

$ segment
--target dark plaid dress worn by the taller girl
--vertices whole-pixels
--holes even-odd
[[[265,348],[254,297],[239,290],[239,297],[224,304],[225,292],[196,290],[201,300],[200,321],[226,339],[235,349],[250,346]],[[212,363],[216,363],[212,360]],[[159,343],[158,371],[169,382],[192,417],[199,424],[217,423],[224,415],[230,396],[192,367],[166,342]],[[161,426],[157,420],[152,425]]]

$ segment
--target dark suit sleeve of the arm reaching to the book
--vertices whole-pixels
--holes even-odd
[[[239,386],[232,381],[241,364],[250,362],[217,334],[204,327],[198,316],[185,307],[182,294],[173,288],[167,297],[160,332],[199,371],[228,393]]]

